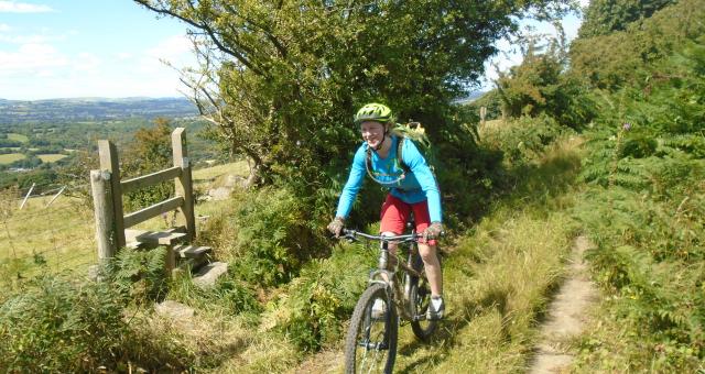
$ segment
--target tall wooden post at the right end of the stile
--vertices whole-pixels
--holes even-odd
[[[193,186],[191,185],[191,163],[188,162],[185,130],[186,129],[184,128],[176,128],[174,132],[172,132],[174,166],[180,166],[182,168],[182,174],[178,178],[174,179],[174,184],[176,187],[176,196],[182,196],[184,198],[182,213],[186,221],[188,240],[193,241],[196,238],[196,219],[194,217],[194,194]]]

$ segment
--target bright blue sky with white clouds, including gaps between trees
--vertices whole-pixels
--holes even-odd
[[[578,25],[564,20],[570,36]],[[495,58],[500,67],[521,61],[510,43],[498,45],[509,52]],[[0,0],[2,99],[182,96],[177,72],[160,59],[195,65],[186,26],[131,0]]]

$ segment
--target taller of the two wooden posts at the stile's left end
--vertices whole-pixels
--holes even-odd
[[[110,197],[112,200],[112,226],[116,233],[116,248],[124,246],[124,223],[122,222],[122,190],[120,190],[120,158],[118,148],[107,140],[98,141],[100,168],[110,173]]]

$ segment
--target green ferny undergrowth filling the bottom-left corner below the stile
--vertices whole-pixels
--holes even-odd
[[[193,356],[173,337],[152,334],[128,315],[126,295],[109,282],[43,276],[0,305],[0,367],[11,373],[186,370]]]

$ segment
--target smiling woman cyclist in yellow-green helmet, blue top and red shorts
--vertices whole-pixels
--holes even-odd
[[[380,232],[382,235],[402,234],[413,211],[416,232],[423,233],[419,252],[424,262],[431,286],[431,305],[426,311],[429,320],[443,318],[443,275],[436,255],[436,240],[443,231],[441,193],[431,168],[413,142],[404,141],[392,131],[394,118],[391,109],[381,103],[368,103],[355,114],[365,141],[355,153],[348,182],[343,188],[335,219],[327,229],[337,237],[350,213],[352,202],[360,190],[366,173],[390,189],[381,209]],[[403,141],[398,158],[398,144]],[[408,167],[402,167],[400,163]],[[409,173],[405,172],[409,169]],[[395,254],[395,246],[390,246]]]

